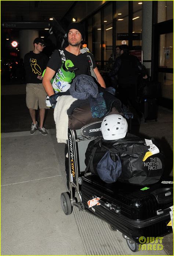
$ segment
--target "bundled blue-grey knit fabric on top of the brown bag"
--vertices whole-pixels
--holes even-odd
[[[73,98],[80,100],[86,100],[90,96],[96,98],[98,85],[95,83],[92,76],[79,75],[73,80],[69,92]]]

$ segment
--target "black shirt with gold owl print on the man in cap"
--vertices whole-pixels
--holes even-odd
[[[24,68],[26,73],[26,83],[42,83],[37,76],[42,75],[46,69],[48,57],[44,53],[34,53],[30,51],[24,56]]]

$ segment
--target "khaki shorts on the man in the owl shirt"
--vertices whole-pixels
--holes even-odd
[[[28,108],[37,110],[39,108],[49,108],[46,105],[47,93],[43,84],[26,84],[26,105]]]

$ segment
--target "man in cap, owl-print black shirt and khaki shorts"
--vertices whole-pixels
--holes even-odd
[[[35,38],[33,41],[34,50],[26,53],[24,56],[24,68],[26,73],[26,105],[32,118],[30,134],[33,135],[38,128],[42,135],[47,135],[46,129],[43,127],[46,108],[46,91],[42,84],[42,73],[47,66],[48,57],[42,52],[45,43],[42,38]],[[36,110],[39,106],[39,127],[36,121]]]

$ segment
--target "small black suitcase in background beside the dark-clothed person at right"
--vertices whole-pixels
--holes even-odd
[[[146,120],[157,120],[158,104],[156,98],[141,98],[139,101],[140,111]]]

